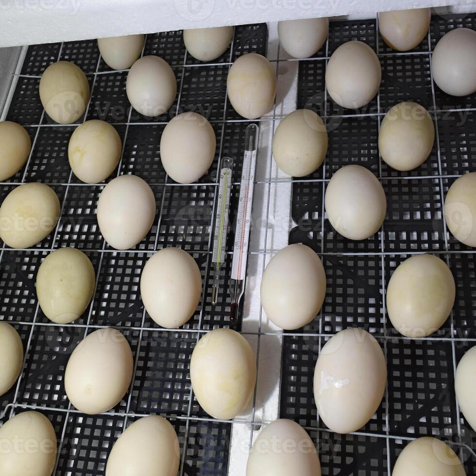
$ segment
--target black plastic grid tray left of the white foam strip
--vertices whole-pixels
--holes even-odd
[[[49,184],[57,192],[62,215],[49,237],[28,250],[11,250],[1,244],[0,319],[18,330],[26,350],[18,385],[0,399],[0,418],[18,411],[40,409],[53,423],[60,443],[57,475],[103,475],[107,456],[123,429],[139,416],[158,413],[175,426],[181,444],[180,475],[226,475],[231,423],[214,421],[199,407],[191,391],[189,362],[201,333],[233,326],[229,321],[228,277],[231,253],[221,273],[223,292],[211,304],[210,229],[217,190],[219,160],[241,157],[248,123],[236,122],[226,99],[226,75],[231,62],[244,52],[266,55],[266,24],[237,26],[228,51],[206,65],[186,54],[182,32],[147,35],[143,54],[166,59],[177,78],[177,97],[170,111],[145,118],[130,107],[125,94],[127,71],[111,71],[102,61],[96,40],[28,47],[6,119],[27,128],[32,154],[26,168],[1,187],[0,200],[17,185],[29,181]],[[120,163],[106,180],[134,173],[152,187],[157,216],[147,237],[135,248],[118,252],[103,240],[96,207],[103,185],[85,185],[68,165],[68,140],[77,124],[54,124],[46,117],[38,96],[42,72],[52,62],[68,60],[82,68],[90,82],[91,101],[83,118],[104,119],[119,132],[123,143]],[[160,164],[160,136],[166,122],[183,111],[206,116],[217,135],[217,153],[210,170],[198,183],[182,186],[166,175]],[[236,165],[239,180],[240,162]],[[231,194],[230,219],[234,222],[239,188]],[[231,252],[232,243],[228,243]],[[73,246],[83,250],[96,271],[97,285],[91,305],[74,324],[51,324],[37,306],[34,283],[38,266],[51,250]],[[203,294],[194,316],[182,329],[161,329],[147,315],[140,300],[140,272],[148,257],[165,246],[179,246],[197,261]],[[98,416],[84,415],[69,405],[63,374],[68,357],[85,334],[101,326],[115,326],[128,339],[135,358],[130,391],[118,406]],[[204,418],[204,420],[203,420]]]

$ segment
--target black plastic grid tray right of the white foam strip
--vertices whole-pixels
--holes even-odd
[[[295,420],[315,436],[324,475],[390,476],[407,440],[431,435],[457,443],[455,450],[467,474],[476,474],[476,433],[458,412],[454,391],[455,365],[476,344],[476,252],[449,234],[442,217],[448,187],[462,173],[476,170],[476,96],[444,94],[432,86],[430,71],[436,42],[456,27],[476,30],[476,14],[434,16],[428,37],[413,51],[398,53],[384,44],[375,19],[331,22],[327,55],[299,64],[297,107],[313,109],[325,118],[329,150],[323,167],[293,181],[291,215],[297,226],[289,243],[303,242],[322,256],[327,294],[313,322],[285,333],[280,416]],[[369,44],[382,65],[378,97],[357,111],[333,103],[323,79],[326,58],[351,39]],[[437,137],[425,164],[398,172],[379,157],[378,129],[391,106],[408,100],[430,110]],[[326,183],[350,163],[371,170],[388,201],[382,228],[363,241],[338,235],[324,214]],[[456,279],[457,297],[452,316],[438,332],[409,340],[387,319],[385,289],[394,269],[419,252],[435,253],[447,261]],[[388,389],[367,425],[356,434],[340,436],[329,433],[318,417],[313,373],[324,343],[353,326],[371,332],[384,348]]]

